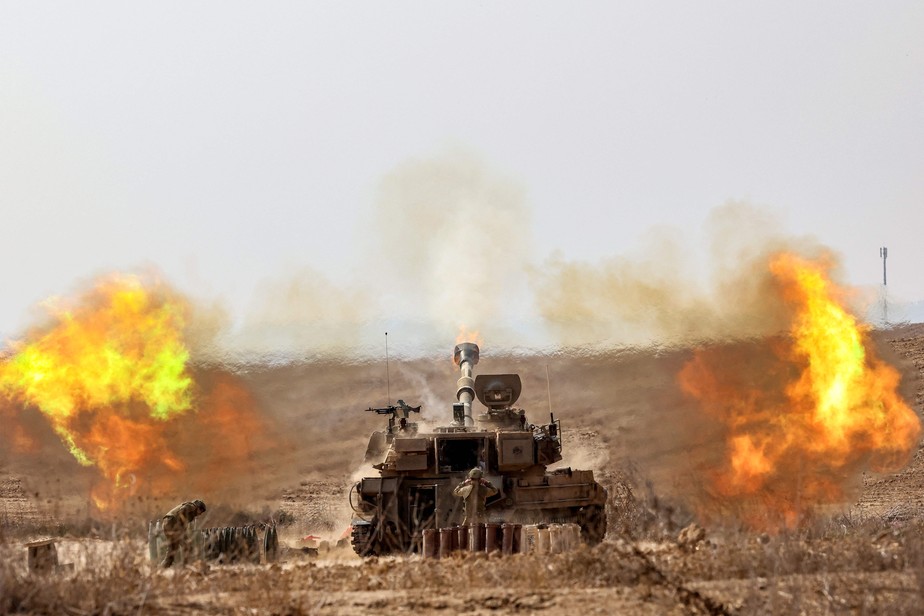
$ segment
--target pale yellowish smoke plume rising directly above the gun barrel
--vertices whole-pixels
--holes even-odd
[[[379,187],[374,226],[383,249],[370,265],[410,310],[420,306],[413,317],[487,335],[524,290],[530,218],[524,189],[470,152],[409,161]]]

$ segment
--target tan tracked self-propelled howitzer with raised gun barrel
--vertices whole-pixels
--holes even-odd
[[[388,415],[388,426],[369,439],[365,461],[378,476],[364,477],[350,492],[357,517],[352,545],[360,556],[419,552],[429,528],[461,524],[464,504],[452,490],[473,468],[498,494],[489,498],[488,522],[537,524],[575,522],[588,544],[606,534],[606,490],[593,471],[548,466],[562,459],[561,423],[532,424],[514,407],[520,396],[516,374],[483,374],[472,378],[478,345],[456,345],[453,362],[459,367],[452,421],[432,432],[418,431],[410,421],[412,407],[370,408]],[[474,414],[477,397],[484,405]]]

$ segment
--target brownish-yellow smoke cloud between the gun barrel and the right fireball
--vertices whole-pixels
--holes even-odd
[[[634,256],[600,263],[553,256],[532,273],[538,312],[559,344],[689,346],[777,333],[786,314],[767,267],[781,250],[818,255],[742,202],[715,208],[702,237],[652,230]]]

